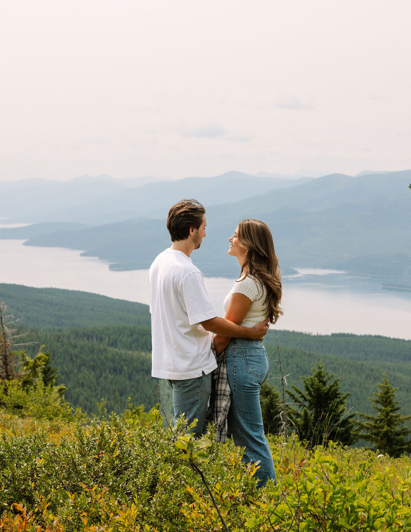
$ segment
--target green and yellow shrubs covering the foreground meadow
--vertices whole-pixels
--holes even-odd
[[[5,531],[210,532],[222,519],[230,531],[411,527],[408,458],[270,438],[278,485],[257,490],[255,468],[232,442],[174,436],[155,410],[87,427],[0,414],[0,425]]]

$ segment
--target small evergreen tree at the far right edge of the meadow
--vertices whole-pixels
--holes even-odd
[[[411,430],[402,426],[411,415],[402,415],[399,412],[400,407],[395,400],[398,388],[390,386],[386,376],[378,386],[380,392],[374,392],[374,397],[370,397],[377,415],[359,414],[364,421],[358,421],[358,427],[363,430],[362,438],[374,444],[380,451],[398,458],[402,453],[411,451],[411,442],[405,439],[411,434]]]

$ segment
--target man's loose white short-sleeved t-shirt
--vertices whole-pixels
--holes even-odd
[[[216,317],[202,272],[185,253],[168,248],[148,273],[152,315],[152,376],[184,380],[217,367],[211,332],[200,322]]]

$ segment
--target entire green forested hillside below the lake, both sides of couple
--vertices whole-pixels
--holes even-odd
[[[0,300],[28,333],[24,348],[30,355],[45,345],[52,365],[67,387],[74,407],[91,413],[104,399],[107,410],[123,411],[130,396],[135,405],[151,408],[157,401],[157,382],[150,376],[150,316],[148,306],[83,292],[0,285]],[[278,347],[287,386],[301,386],[317,363],[340,379],[347,406],[370,412],[368,397],[378,390],[384,374],[398,387],[404,414],[411,413],[411,342],[377,336],[309,335],[272,330],[264,342],[271,372],[268,383],[280,386]],[[162,389],[170,411],[170,395]]]

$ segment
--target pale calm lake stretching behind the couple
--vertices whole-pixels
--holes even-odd
[[[1,283],[68,288],[148,304],[148,270],[111,271],[106,262],[80,251],[23,246],[0,240]],[[161,250],[159,250],[161,251]],[[191,255],[195,263],[195,252]],[[219,315],[234,279],[206,278]],[[7,302],[5,302],[7,303]],[[271,326],[313,334],[351,332],[411,339],[411,292],[392,292],[379,281],[333,270],[298,269],[283,278],[283,317]]]

